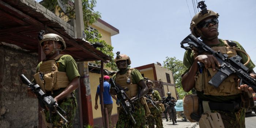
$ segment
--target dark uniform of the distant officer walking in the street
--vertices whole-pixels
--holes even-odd
[[[165,101],[163,103],[168,103],[171,99],[174,99],[175,102],[177,102],[174,97],[169,97],[168,96],[168,97],[166,97],[166,99],[165,99]],[[174,108],[175,102],[170,102],[169,106],[166,108],[166,112],[169,114],[170,120],[172,119],[173,123],[174,122],[177,123],[177,121],[176,121],[176,119],[177,119],[177,117],[176,117],[176,109]],[[166,113],[166,116],[167,116],[167,113]]]

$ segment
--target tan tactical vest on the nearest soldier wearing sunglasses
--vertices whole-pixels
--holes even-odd
[[[224,41],[225,46],[212,47],[211,49],[214,51],[220,51],[222,54],[227,54],[229,57],[235,56],[236,50],[233,49],[226,41]],[[194,59],[198,56],[198,52],[193,50]],[[201,53],[201,54],[209,54],[209,53]],[[205,95],[216,95],[216,96],[226,96],[226,95],[235,95],[241,93],[241,90],[238,90],[238,78],[235,74],[231,74],[228,76],[219,87],[215,88],[208,84],[211,78],[218,72],[218,70],[212,71],[212,68],[203,68],[203,72],[199,71],[195,76],[195,88],[197,91],[203,91]]]

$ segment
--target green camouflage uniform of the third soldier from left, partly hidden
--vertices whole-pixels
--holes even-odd
[[[152,99],[155,99],[155,101],[162,101],[160,94],[157,90],[148,91]],[[154,92],[154,93],[151,93]],[[147,116],[147,123],[148,128],[155,128],[155,125],[157,125],[157,128],[163,128],[163,120],[162,120],[162,109],[159,105],[156,105],[158,110],[148,103],[148,108],[150,109],[151,114]],[[155,122],[155,125],[154,125]]]

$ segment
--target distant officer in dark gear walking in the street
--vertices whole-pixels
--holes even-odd
[[[174,108],[174,106],[176,105],[175,102],[177,102],[177,100],[172,97],[172,93],[167,92],[168,97],[165,98],[165,100],[163,101],[163,103],[167,106],[166,108],[166,112],[168,112],[169,116],[170,116],[170,120],[172,119],[173,125],[175,123],[177,123],[176,119],[176,109]],[[167,120],[167,119],[166,119]]]

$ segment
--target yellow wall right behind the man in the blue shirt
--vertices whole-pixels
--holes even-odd
[[[93,106],[93,118],[99,118],[101,116],[101,106],[99,104],[99,97],[98,97],[98,109],[95,110],[95,95],[97,91],[97,87],[99,85],[99,78],[101,77],[101,74],[97,73],[89,73],[89,80],[90,80],[90,87],[91,87],[91,102]],[[111,76],[110,76],[111,77]],[[116,100],[113,99],[113,109],[112,109],[112,115],[117,114],[117,105],[116,105]]]

